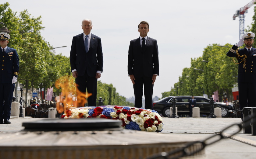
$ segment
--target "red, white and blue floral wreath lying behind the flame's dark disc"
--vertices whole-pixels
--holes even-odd
[[[130,130],[161,132],[162,117],[155,110],[128,106],[80,107],[68,109],[61,118],[107,118],[122,120],[122,127]]]

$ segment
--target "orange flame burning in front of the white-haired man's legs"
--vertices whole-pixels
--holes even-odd
[[[56,80],[55,87],[61,88],[60,99],[56,99],[56,109],[59,113],[66,112],[71,107],[83,107],[87,103],[86,98],[91,93],[80,92],[72,76],[63,76]]]

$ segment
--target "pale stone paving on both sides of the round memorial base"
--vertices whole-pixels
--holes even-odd
[[[1,133],[11,133],[23,130],[23,122],[32,122],[42,118],[18,118],[11,117],[11,124],[0,124]],[[172,135],[178,135],[181,138],[191,138],[196,140],[205,140],[208,137],[221,132],[227,126],[234,123],[241,123],[240,118],[163,118],[164,129],[161,133],[166,138]],[[224,131],[229,135],[236,132],[237,126]],[[209,140],[210,142],[213,139]],[[1,142],[1,140],[0,140]],[[214,144],[205,147],[205,159],[255,159],[256,158],[256,136],[244,134],[243,130],[232,138],[222,139]]]

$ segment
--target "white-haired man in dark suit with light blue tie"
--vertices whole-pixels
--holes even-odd
[[[96,106],[97,80],[103,71],[101,38],[91,33],[91,19],[82,21],[82,29],[84,33],[74,36],[72,40],[70,66],[79,91],[85,93],[87,89],[92,94],[88,97],[88,106]]]

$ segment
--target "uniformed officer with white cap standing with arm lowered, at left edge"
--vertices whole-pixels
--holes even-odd
[[[10,124],[12,94],[19,74],[17,51],[7,46],[11,36],[0,33],[0,124]]]

